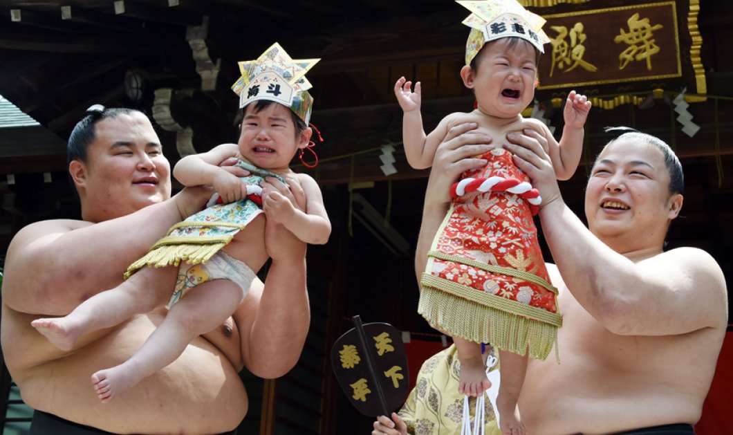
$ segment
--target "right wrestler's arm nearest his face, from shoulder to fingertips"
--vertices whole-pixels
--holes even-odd
[[[679,248],[635,263],[615,252],[565,205],[542,138],[527,131],[515,140],[508,148],[542,194],[542,230],[564,282],[606,329],[674,335],[726,325],[725,279],[710,255]]]

